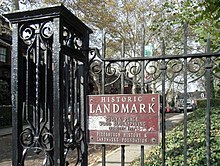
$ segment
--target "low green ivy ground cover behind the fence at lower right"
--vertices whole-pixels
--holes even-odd
[[[220,165],[220,109],[211,110],[211,165]],[[166,135],[166,165],[184,165],[184,125],[180,123]],[[187,121],[187,165],[206,165],[206,110],[197,109]],[[162,165],[161,145],[152,148],[146,166]],[[140,165],[136,161],[133,165]]]

